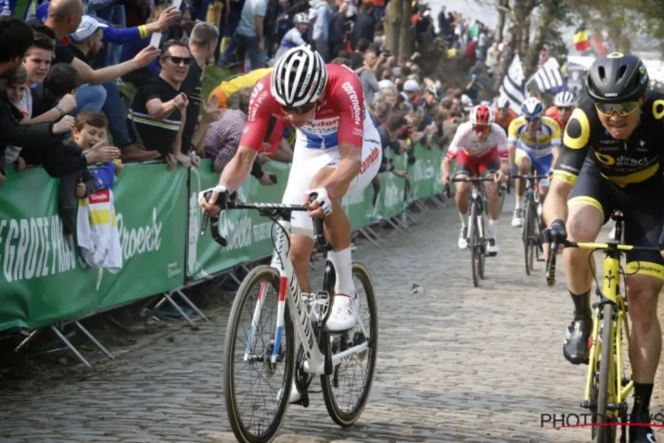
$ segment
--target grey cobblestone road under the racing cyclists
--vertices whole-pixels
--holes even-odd
[[[451,207],[429,211],[406,237],[390,234],[381,250],[358,249],[380,309],[369,404],[358,424],[340,429],[314,394],[310,408],[290,408],[278,441],[590,441],[589,429],[541,426],[542,415],[584,412],[586,367],[561,355],[570,315],[563,278],[547,288],[542,263],[525,275],[508,209],[501,253],[487,260],[478,289],[468,253],[456,248]],[[426,293],[411,296],[413,283]],[[0,392],[0,441],[235,441],[221,393],[225,315],[123,354],[82,381]]]

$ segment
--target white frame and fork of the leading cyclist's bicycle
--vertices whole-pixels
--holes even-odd
[[[276,241],[274,253],[272,255],[272,262],[270,263],[270,267],[277,269],[280,276],[279,301],[277,305],[277,324],[276,330],[274,331],[274,349],[271,356],[271,362],[276,363],[279,357],[282,335],[286,324],[284,319],[286,301],[288,300],[291,313],[290,315],[293,319],[293,322],[295,323],[297,330],[297,338],[299,338],[300,342],[305,347],[307,356],[304,365],[305,372],[310,374],[323,375],[325,374],[325,356],[320,352],[316,337],[313,334],[311,318],[305,306],[305,300],[302,297],[299,284],[297,284],[297,278],[293,270],[293,263],[290,261],[289,257],[288,249],[290,246],[290,221],[280,220],[278,221],[278,224],[279,227],[275,227],[277,229]],[[256,327],[259,324],[260,311],[265,302],[267,289],[268,288],[265,283],[260,285],[259,301],[256,304],[253,312],[249,337],[247,338],[247,344],[244,350],[244,361],[248,361],[251,358],[251,343],[253,341],[253,332],[256,330]],[[362,329],[365,337],[368,338],[367,331],[364,329],[364,325],[361,323],[360,328]],[[353,346],[341,353],[334,354],[332,356],[333,367],[336,367],[348,355],[361,353],[362,351],[367,350],[368,347],[368,341],[365,340],[365,342],[360,345]]]

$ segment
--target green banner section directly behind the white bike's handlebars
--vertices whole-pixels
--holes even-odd
[[[282,201],[290,165],[269,161],[263,165],[266,173],[274,174],[277,183],[266,186],[250,176],[238,190],[242,201],[279,203]],[[219,231],[228,240],[222,248],[212,240],[210,229],[201,236],[203,217],[198,206],[198,192],[212,188],[219,182],[219,174],[212,170],[212,160],[205,159],[200,167],[191,169],[189,179],[189,242],[187,276],[199,280],[224,269],[258,260],[272,253],[272,221],[256,211],[225,211],[220,215]]]

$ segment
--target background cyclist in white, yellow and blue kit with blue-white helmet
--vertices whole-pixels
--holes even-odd
[[[549,175],[553,160],[560,148],[560,126],[550,117],[545,117],[544,105],[537,97],[528,97],[521,104],[521,117],[510,123],[507,131],[507,150],[512,170],[520,175],[529,175],[532,168],[537,172],[540,201],[544,201],[549,190]],[[512,226],[523,225],[526,182],[517,178],[516,207]]]

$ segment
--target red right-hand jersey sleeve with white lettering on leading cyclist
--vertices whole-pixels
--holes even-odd
[[[339,144],[347,143],[362,147],[364,136],[365,103],[362,83],[357,74],[346,66],[340,69],[339,82],[328,84],[332,87],[331,99],[336,103],[339,112]],[[344,72],[345,71],[345,72]]]

